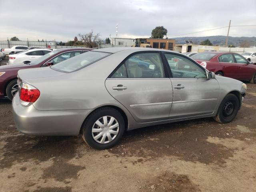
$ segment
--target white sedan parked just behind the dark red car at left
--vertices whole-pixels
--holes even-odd
[[[29,64],[32,61],[37,60],[41,56],[52,52],[49,49],[31,49],[27,51],[23,51],[17,54],[13,54],[9,56],[9,61],[7,64]]]

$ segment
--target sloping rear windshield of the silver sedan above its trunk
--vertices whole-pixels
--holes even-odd
[[[80,54],[68,60],[62,61],[54,66],[52,69],[61,72],[73,72],[80,70],[102,58],[109,56],[110,53],[98,52],[98,51],[88,51],[86,53]]]

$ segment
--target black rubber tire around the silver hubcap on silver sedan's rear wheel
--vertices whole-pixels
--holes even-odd
[[[101,144],[96,140],[94,140],[95,135],[93,137],[92,134],[96,134],[96,133],[92,133],[92,128],[95,126],[96,121],[104,116],[108,116],[108,118],[109,116],[114,117],[118,122],[119,127],[118,127],[118,134],[116,134],[116,137],[112,141],[108,142],[108,138],[106,138],[107,139],[106,142],[108,143]],[[116,121],[114,123],[116,123]],[[109,122],[109,119],[108,119],[108,122]],[[84,139],[86,144],[88,144],[90,147],[102,150],[102,149],[111,148],[112,146],[116,145],[122,138],[124,134],[124,130],[125,130],[124,118],[122,117],[120,112],[118,112],[118,110],[115,110],[109,107],[101,108],[92,112],[92,114],[90,114],[90,116],[84,122],[82,126],[82,138]],[[114,136],[114,134],[113,135],[111,134],[111,136]],[[102,137],[100,137],[99,140],[102,139]]]

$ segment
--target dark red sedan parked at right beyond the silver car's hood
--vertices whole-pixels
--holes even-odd
[[[202,52],[191,56],[201,66],[216,75],[256,83],[256,65],[232,52]]]

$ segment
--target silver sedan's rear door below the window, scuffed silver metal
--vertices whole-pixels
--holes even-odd
[[[105,85],[108,92],[130,111],[137,122],[168,120],[173,94],[169,78],[109,78]],[[116,88],[123,86],[126,89]]]

